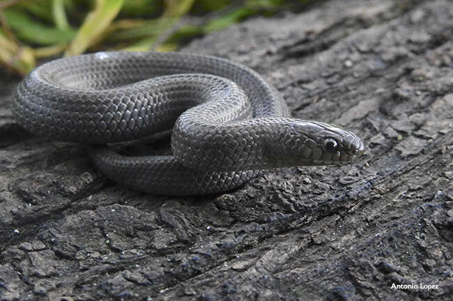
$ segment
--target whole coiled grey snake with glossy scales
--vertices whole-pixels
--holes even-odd
[[[17,86],[12,111],[39,136],[81,143],[122,186],[158,195],[233,190],[263,170],[352,163],[354,133],[291,117],[245,65],[183,52],[105,51],[58,58]],[[112,143],[171,131],[171,154],[126,156]]]

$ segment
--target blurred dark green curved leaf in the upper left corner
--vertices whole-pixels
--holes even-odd
[[[20,10],[10,8],[3,11],[6,23],[13,29],[17,37],[25,42],[40,45],[52,45],[69,42],[75,35],[73,29],[56,29],[34,22]]]

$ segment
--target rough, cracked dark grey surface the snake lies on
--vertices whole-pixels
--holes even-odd
[[[452,1],[332,0],[192,42],[367,145],[204,197],[123,188],[29,135],[1,74],[0,300],[452,300],[452,37]]]

